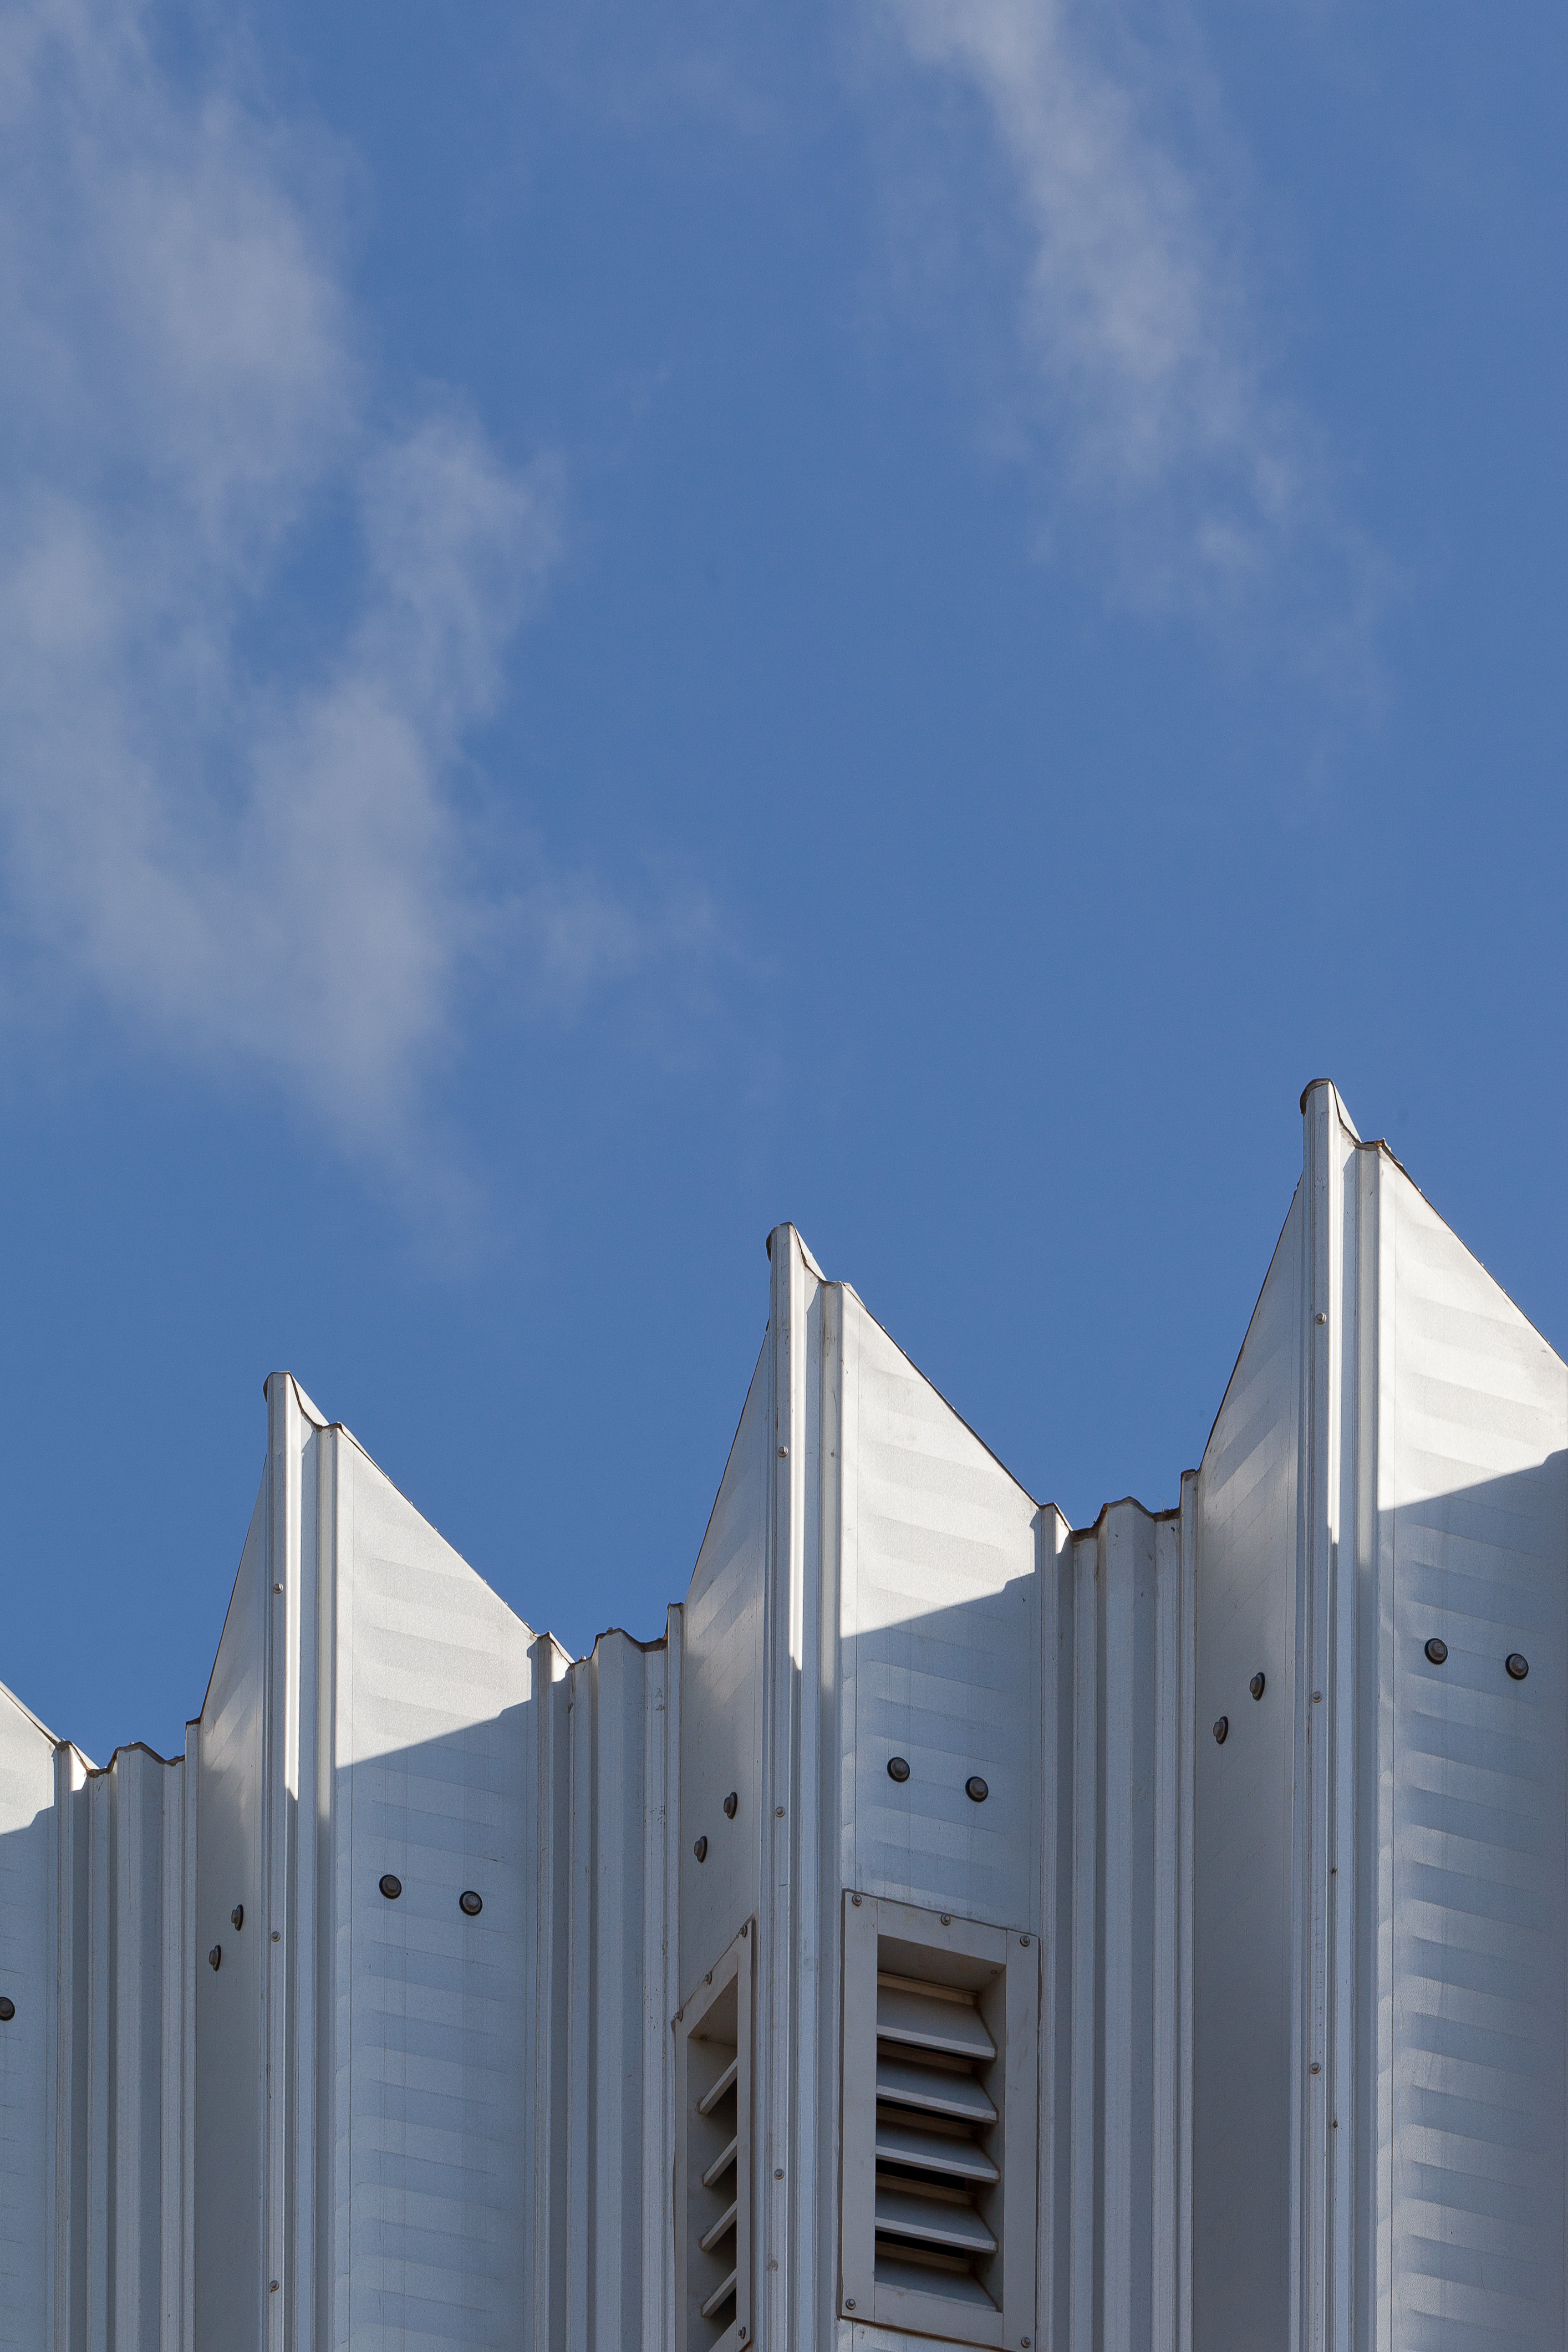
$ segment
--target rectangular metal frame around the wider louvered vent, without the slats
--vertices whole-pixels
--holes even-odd
[[[893,1976],[973,1994],[994,2046],[983,2067],[997,2110],[980,2133],[997,2180],[976,2192],[997,2251],[983,2256],[990,2307],[877,2277],[877,1994]],[[910,2336],[1018,2352],[1037,2340],[1039,1936],[844,1893],[839,2317]],[[891,1990],[891,1987],[889,1987]],[[978,2079],[959,2074],[959,2082]],[[978,2209],[980,2209],[978,2206]],[[914,2265],[917,2267],[917,2265]]]

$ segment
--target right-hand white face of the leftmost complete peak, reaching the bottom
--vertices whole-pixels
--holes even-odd
[[[346,1432],[336,1449],[334,2340],[515,2345],[531,1637]]]

